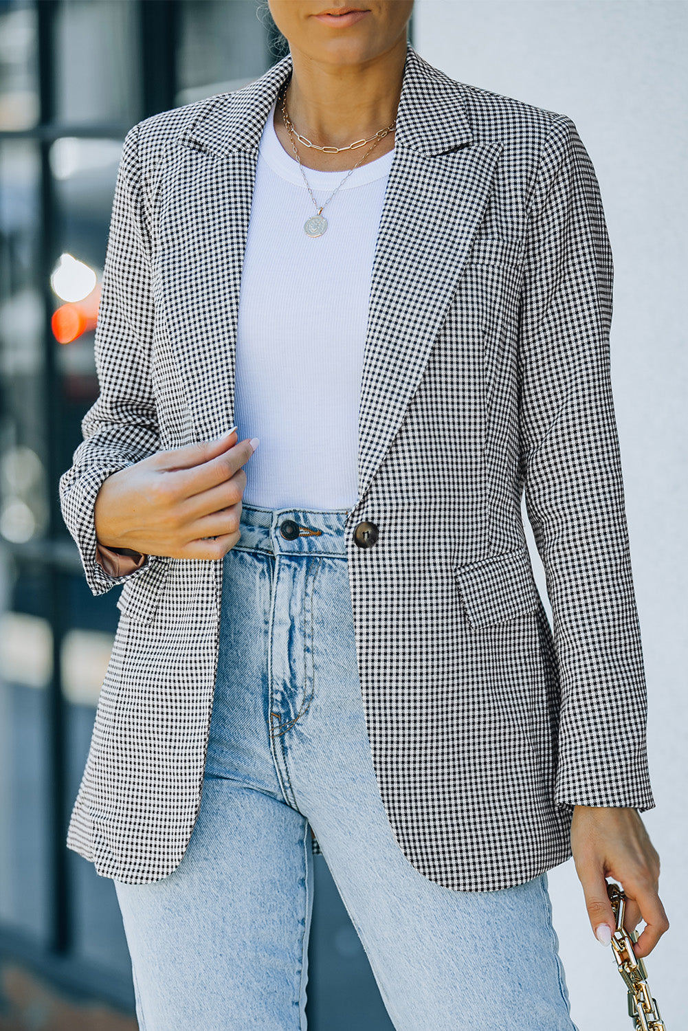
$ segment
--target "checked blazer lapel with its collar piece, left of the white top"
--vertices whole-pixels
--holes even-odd
[[[182,209],[167,215],[177,239],[161,294],[173,298],[169,322],[198,440],[220,436],[234,422],[239,293],[258,146],[290,72],[285,58],[238,93],[220,94],[181,139],[176,174],[185,184],[170,191],[169,203],[179,198]]]

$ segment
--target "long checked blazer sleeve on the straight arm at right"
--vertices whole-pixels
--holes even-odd
[[[654,806],[646,686],[612,400],[612,255],[576,127],[534,180],[520,339],[520,455],[561,685],[558,805]]]

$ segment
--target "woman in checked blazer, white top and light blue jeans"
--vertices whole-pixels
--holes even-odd
[[[310,828],[397,1029],[570,1031],[546,871],[603,944],[607,875],[638,955],[668,926],[594,173],[409,0],[270,9],[288,58],[125,143],[61,485],[125,585],[69,844],[145,1031],[305,1026]]]

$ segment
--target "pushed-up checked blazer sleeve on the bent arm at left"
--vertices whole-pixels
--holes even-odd
[[[60,478],[63,518],[94,594],[129,576],[145,575],[158,561],[153,556],[132,561],[134,553],[122,562],[107,561],[108,553],[97,545],[93,519],[103,480],[160,446],[151,377],[151,241],[137,140],[134,126],[124,142],[112,204],[95,338],[100,394],[81,423],[84,442]]]

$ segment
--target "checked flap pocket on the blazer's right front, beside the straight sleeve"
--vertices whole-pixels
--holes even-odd
[[[455,566],[454,575],[473,627],[504,623],[535,610],[539,595],[523,547],[495,558]]]

